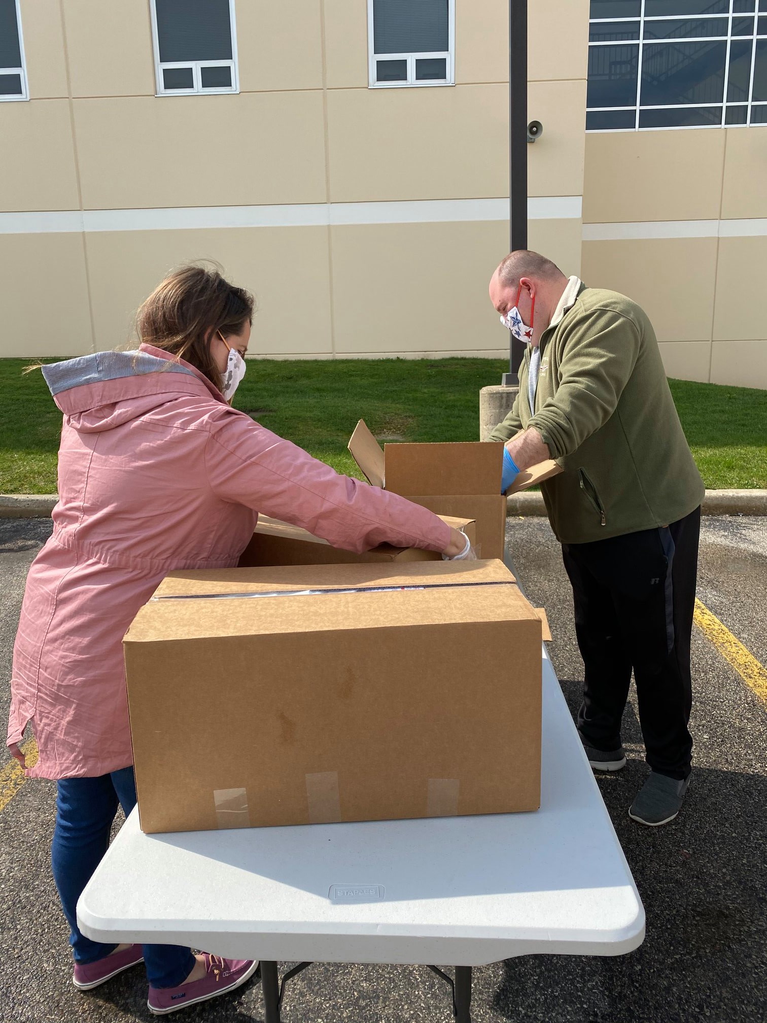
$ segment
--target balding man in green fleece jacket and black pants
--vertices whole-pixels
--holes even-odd
[[[520,393],[490,436],[506,444],[504,490],[546,458],[563,470],[542,490],[573,585],[581,740],[594,769],[626,763],[621,718],[633,668],[650,773],[629,814],[666,824],[689,784],[705,490],[652,325],[625,296],[587,287],[528,251],[503,260],[490,300],[526,343]]]

